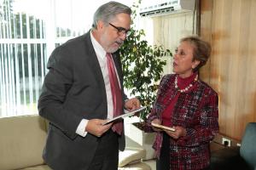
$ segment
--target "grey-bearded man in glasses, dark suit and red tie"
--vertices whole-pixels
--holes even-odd
[[[124,108],[131,111],[140,106],[138,99],[126,99],[116,53],[130,26],[131,8],[105,3],[96,10],[89,32],[50,55],[38,100],[40,116],[49,120],[43,156],[49,167],[118,169],[119,150],[125,149],[123,124],[102,124]]]

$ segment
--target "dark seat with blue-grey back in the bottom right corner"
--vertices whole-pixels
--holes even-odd
[[[211,170],[256,170],[256,122],[247,124],[241,147],[224,147],[211,154]]]

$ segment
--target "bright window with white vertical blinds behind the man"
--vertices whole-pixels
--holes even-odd
[[[0,117],[38,113],[49,54],[89,31],[96,8],[107,2],[0,0]]]

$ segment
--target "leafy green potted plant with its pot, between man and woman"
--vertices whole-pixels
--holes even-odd
[[[134,20],[137,16],[138,5],[133,4],[132,8],[135,8],[131,14]],[[172,57],[172,53],[160,45],[149,45],[145,37],[145,32],[136,30],[132,24],[131,35],[126,38],[119,52],[123,67],[124,87],[131,91],[132,95],[137,96],[143,106],[146,106],[146,109],[140,112],[141,121],[133,123],[136,127],[131,126],[131,132],[135,134],[131,136],[131,139],[138,144],[146,144],[143,148],[147,150],[145,158],[147,160],[153,158],[154,155],[154,150],[151,148],[154,133],[144,133],[143,122],[147,119],[156,98],[158,83],[166,65],[164,57]],[[137,127],[141,130],[137,131]]]

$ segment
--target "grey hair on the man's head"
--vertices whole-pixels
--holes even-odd
[[[96,29],[97,22],[99,20],[102,20],[103,23],[107,25],[108,22],[110,22],[117,14],[121,13],[131,15],[131,8],[122,3],[117,3],[114,1],[105,3],[100,6],[93,15],[92,27]]]

